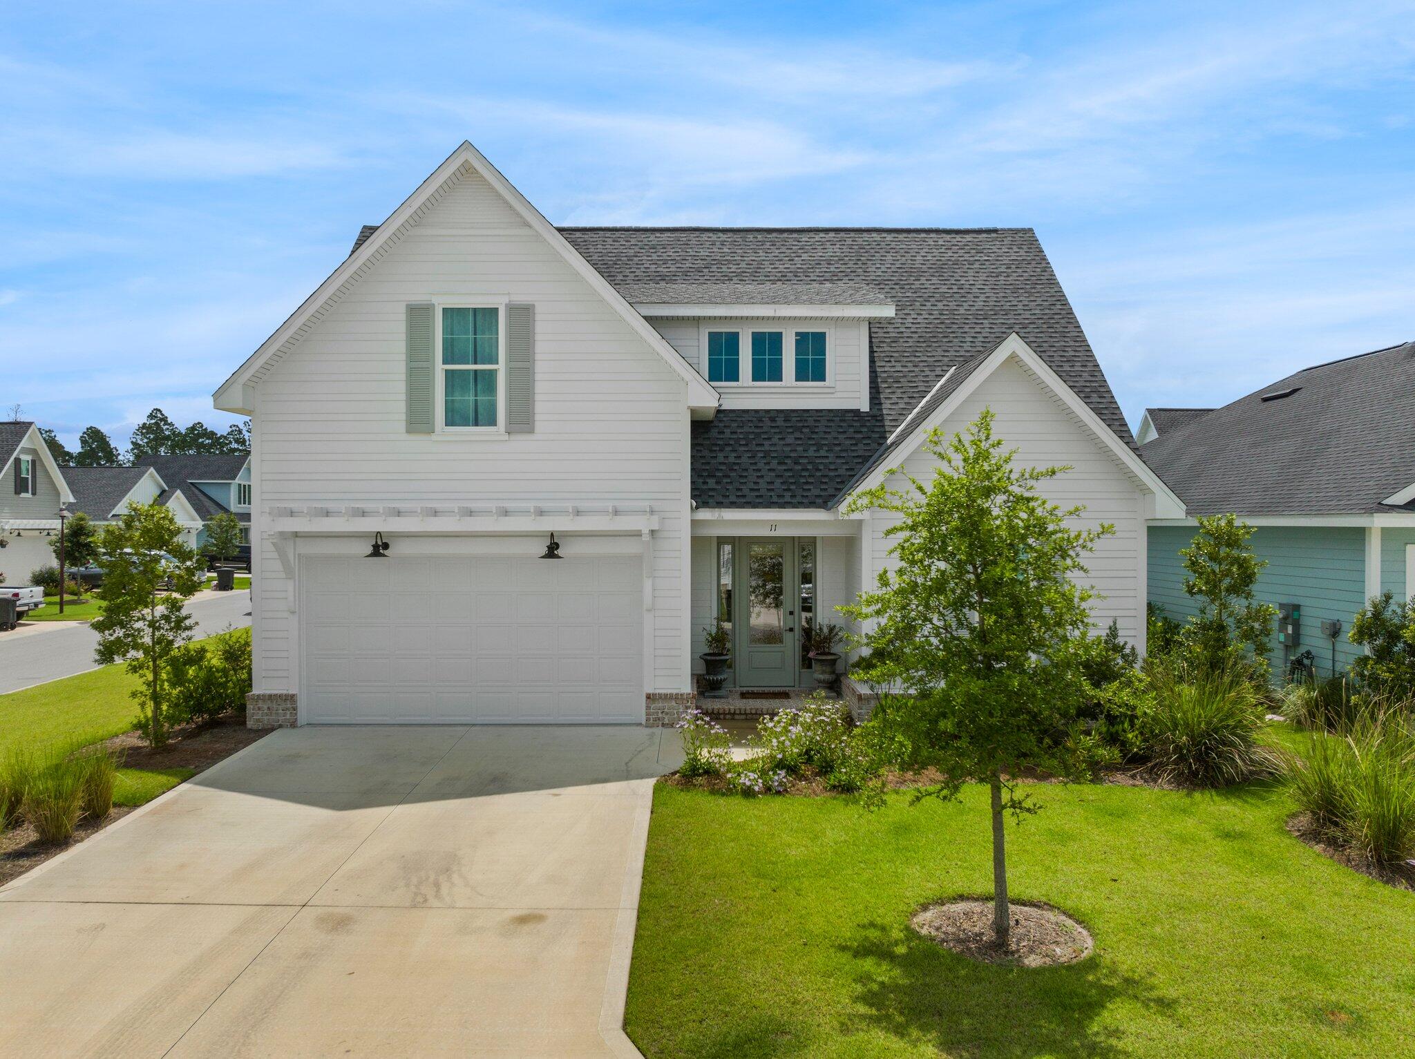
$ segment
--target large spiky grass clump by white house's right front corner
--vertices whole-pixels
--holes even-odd
[[[1262,703],[1240,667],[1160,666],[1152,684],[1145,749],[1159,782],[1221,788],[1276,768],[1258,744]]]

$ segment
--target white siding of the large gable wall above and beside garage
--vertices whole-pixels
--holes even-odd
[[[535,431],[405,433],[406,303],[478,298],[535,304]],[[265,372],[253,433],[258,526],[276,505],[652,505],[647,683],[686,687],[685,383],[470,170]],[[296,621],[269,542],[255,563],[256,686],[297,690]]]

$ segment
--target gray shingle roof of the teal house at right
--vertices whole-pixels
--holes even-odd
[[[1305,368],[1139,450],[1190,515],[1415,510],[1415,342]]]

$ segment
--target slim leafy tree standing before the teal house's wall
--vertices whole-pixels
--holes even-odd
[[[1200,515],[1199,533],[1184,558],[1184,592],[1199,599],[1199,614],[1189,619],[1186,640],[1196,660],[1218,670],[1244,648],[1252,650],[1258,674],[1266,679],[1268,645],[1278,611],[1252,598],[1266,560],[1248,544],[1257,530],[1232,515]]]

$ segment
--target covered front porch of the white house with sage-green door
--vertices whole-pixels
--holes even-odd
[[[860,522],[816,509],[693,512],[692,656],[705,672],[708,633],[722,624],[732,643],[729,715],[757,717],[815,687],[811,633],[853,624],[836,608],[860,585]],[[848,645],[836,645],[843,672]],[[774,696],[774,697],[767,697]]]

